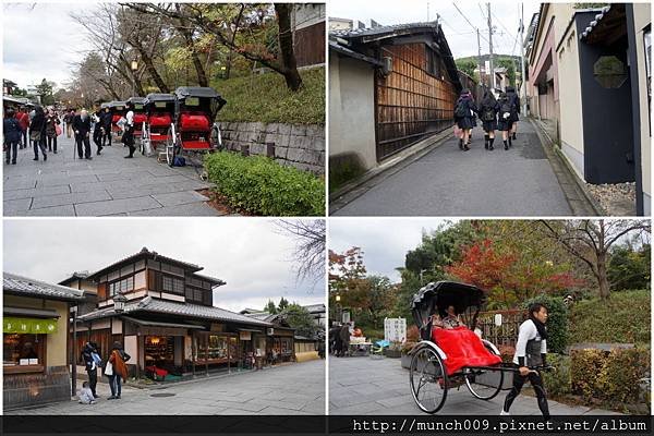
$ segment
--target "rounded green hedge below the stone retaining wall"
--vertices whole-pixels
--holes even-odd
[[[311,172],[231,152],[208,155],[205,168],[231,207],[268,216],[325,215],[325,182]]]

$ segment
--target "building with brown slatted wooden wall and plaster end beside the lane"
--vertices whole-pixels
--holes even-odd
[[[453,124],[461,90],[438,22],[329,33],[330,171],[368,170]]]

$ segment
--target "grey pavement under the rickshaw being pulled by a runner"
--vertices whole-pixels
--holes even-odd
[[[526,387],[525,387],[526,389]],[[498,415],[508,391],[493,400],[475,399],[465,386],[447,392],[438,413],[446,415]],[[570,407],[549,401],[553,415],[619,414],[586,407]],[[536,398],[519,396],[511,413],[541,415]],[[329,356],[329,414],[334,415],[421,415],[409,387],[409,370],[399,359]]]

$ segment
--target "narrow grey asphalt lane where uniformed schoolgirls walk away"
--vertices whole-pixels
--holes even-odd
[[[451,137],[422,158],[374,178],[356,190],[362,195],[332,215],[572,215],[533,126],[524,121],[518,130],[508,152],[497,138],[495,150],[485,150],[481,126],[473,131],[470,152],[461,152]]]

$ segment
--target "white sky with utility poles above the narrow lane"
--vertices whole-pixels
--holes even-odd
[[[428,17],[427,17],[428,3]],[[486,2],[458,0],[457,7],[474,27],[457,11],[450,1],[425,0],[330,0],[327,14],[339,19],[352,19],[370,25],[370,20],[385,25],[434,21],[438,13],[444,22],[443,29],[455,58],[477,55],[475,28],[482,33],[482,53],[488,53],[488,26],[486,22]],[[516,56],[520,53],[520,43],[516,43],[516,34],[520,23],[520,3],[513,1],[493,1],[491,3],[495,53]],[[524,3],[524,22],[529,26],[532,14],[538,11],[540,3]],[[514,48],[513,48],[514,47]]]

